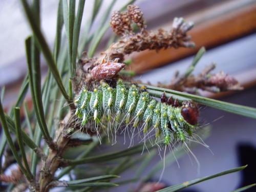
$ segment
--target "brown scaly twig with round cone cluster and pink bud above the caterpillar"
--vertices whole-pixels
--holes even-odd
[[[132,31],[132,23],[139,27],[138,33]],[[169,31],[163,29],[147,31],[143,13],[135,5],[128,6],[126,12],[114,12],[110,25],[117,35],[121,35],[121,38],[102,52],[99,57],[83,57],[80,60],[81,67],[77,70],[77,82],[81,82],[80,79],[82,79],[89,85],[95,80],[115,77],[124,67],[122,65],[124,57],[133,52],[195,46],[194,42],[190,41],[190,36],[187,35],[187,31],[193,27],[192,22],[186,23],[183,18],[175,18],[172,29]],[[107,71],[111,73],[107,75]]]

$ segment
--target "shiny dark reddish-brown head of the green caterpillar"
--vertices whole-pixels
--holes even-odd
[[[185,104],[181,109],[181,115],[189,124],[195,125],[198,122],[199,111],[197,106]]]

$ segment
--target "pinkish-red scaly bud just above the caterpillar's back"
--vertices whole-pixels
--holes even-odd
[[[95,66],[92,69],[91,74],[95,80],[111,79],[116,76],[124,66],[124,63],[108,61]]]

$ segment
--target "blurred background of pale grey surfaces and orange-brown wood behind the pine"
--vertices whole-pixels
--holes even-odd
[[[100,12],[103,12],[110,2],[104,0]],[[116,1],[113,10],[117,10],[124,2],[127,1]],[[41,26],[52,47],[57,4],[58,1],[41,1]],[[195,22],[195,27],[189,34],[196,43],[194,49],[168,49],[158,53],[144,51],[130,55],[129,58],[133,60],[131,70],[136,72],[137,79],[152,83],[169,82],[173,74],[177,70],[183,71],[193,60],[193,55],[204,46],[207,52],[199,61],[194,73],[201,72],[205,65],[215,62],[217,68],[214,72],[223,70],[236,77],[244,87],[244,90],[239,92],[205,93],[205,96],[256,107],[255,0],[138,0],[135,4],[142,9],[148,29],[169,29],[175,16]],[[83,26],[92,12],[92,5],[93,1],[86,2]],[[97,21],[101,16],[97,16],[91,33],[97,29]],[[6,87],[4,105],[8,108],[15,101],[21,79],[27,72],[24,39],[30,34],[30,29],[18,1],[0,1],[0,30],[0,86]],[[105,33],[99,51],[105,48],[112,34],[111,30]],[[42,71],[46,70],[47,66],[42,60]],[[180,167],[176,162],[166,167],[163,181],[167,185],[178,184],[248,164],[243,172],[197,184],[190,187],[190,191],[230,191],[255,182],[255,120],[206,107],[202,107],[200,112],[201,121],[210,123],[212,127],[205,142],[214,155],[203,146],[194,147],[193,152],[201,163],[200,173],[197,173],[195,160],[190,160],[188,155],[184,155],[178,159]],[[152,165],[157,160],[156,158]],[[126,176],[133,173],[134,170],[129,170]],[[152,179],[158,181],[159,175],[160,173],[157,173]],[[123,187],[122,190],[127,191],[132,190],[134,186],[127,184]],[[119,190],[120,188],[116,189]],[[252,188],[251,191],[256,189]]]

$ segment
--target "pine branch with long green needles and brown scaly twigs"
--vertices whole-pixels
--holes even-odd
[[[114,12],[109,24],[107,19],[115,2],[116,1],[113,0],[106,9],[96,32],[92,34],[92,36],[81,37],[81,46],[85,46],[90,42],[88,52],[89,57],[81,58],[78,65],[76,65],[77,55],[80,54],[78,52],[82,49],[81,47],[78,49],[78,44],[80,43],[79,36],[85,0],[79,0],[77,12],[76,1],[59,1],[56,39],[53,53],[40,30],[40,2],[33,1],[33,3],[29,5],[26,0],[22,0],[22,5],[28,18],[28,23],[33,32],[31,37],[26,40],[29,73],[24,80],[22,89],[20,89],[16,102],[17,108],[15,108],[9,116],[4,113],[2,102],[0,102],[1,123],[5,133],[4,136],[6,136],[2,137],[4,139],[1,141],[0,155],[2,157],[6,147],[6,142],[8,142],[9,151],[12,151],[8,160],[12,162],[16,161],[19,165],[19,168],[16,169],[16,175],[13,172],[10,176],[1,174],[0,178],[3,178],[6,182],[9,181],[13,183],[15,190],[25,190],[29,187],[35,191],[49,191],[52,187],[60,186],[69,187],[74,190],[78,188],[81,190],[93,190],[99,187],[112,187],[116,186],[115,183],[111,182],[112,179],[118,177],[116,175],[121,174],[124,170],[133,167],[137,162],[141,161],[142,164],[137,169],[135,177],[133,179],[119,181],[119,184],[134,182],[139,179],[146,165],[148,165],[155,155],[155,146],[151,146],[147,147],[147,150],[152,152],[151,155],[147,155],[146,158],[144,158],[144,156],[133,158],[133,155],[141,153],[145,147],[144,145],[147,144],[146,142],[130,147],[126,150],[117,152],[111,151],[110,153],[103,153],[100,155],[96,153],[92,155],[92,152],[94,151],[93,149],[101,143],[101,140],[99,139],[92,139],[94,138],[93,136],[87,140],[90,144],[83,148],[83,150],[85,150],[80,153],[77,158],[66,158],[64,156],[68,147],[74,147],[74,145],[78,146],[82,143],[77,142],[78,140],[74,139],[75,137],[72,135],[81,129],[80,121],[74,114],[76,106],[73,102],[73,98],[77,96],[76,93],[80,90],[81,86],[86,84],[91,89],[98,87],[100,85],[100,81],[104,79],[115,81],[120,77],[127,79],[127,76],[132,76],[131,72],[128,73],[123,70],[123,68],[125,67],[124,57],[133,52],[140,52],[144,50],[157,51],[171,47],[194,47],[194,42],[190,41],[190,36],[187,34],[187,32],[193,27],[193,23],[185,22],[183,18],[175,18],[172,29],[169,31],[162,29],[159,29],[158,31],[147,31],[143,13],[135,5],[129,5],[126,11],[124,11],[124,8],[121,8],[120,11]],[[134,1],[132,0],[129,2],[131,3]],[[93,14],[90,16],[90,20],[84,34],[88,35],[91,30],[91,26],[94,23],[100,6],[101,1],[95,0]],[[134,33],[132,30],[133,24],[136,24],[139,29],[137,33]],[[63,25],[66,28],[67,46],[65,41],[62,41],[61,39],[61,30]],[[116,35],[120,36],[120,39],[102,52],[101,55],[94,56],[97,46],[109,26],[112,27]],[[114,37],[110,39],[110,42],[114,39]],[[44,55],[49,66],[49,72],[42,89],[39,60],[40,51]],[[188,88],[200,88],[208,91],[218,91],[218,89],[219,91],[240,89],[238,82],[231,76],[222,72],[210,74],[212,69],[214,69],[214,65],[207,67],[198,76],[192,75],[198,60],[202,57],[204,52],[205,49],[202,48],[187,70],[184,71],[184,73],[181,73],[181,75],[177,73],[174,80],[169,85],[158,84],[158,86],[165,88],[169,86],[168,88],[172,89],[153,87],[141,83],[139,83],[138,86],[143,87],[143,90],[146,86],[145,90],[147,93],[158,98],[165,93],[166,96],[172,96],[180,101],[186,101],[185,103],[193,100],[220,110],[256,118],[256,111],[253,108],[173,90],[178,88],[182,89],[181,91],[186,91]],[[69,65],[67,65],[67,63]],[[126,65],[128,64],[126,63]],[[127,76],[124,77],[125,75]],[[128,86],[130,85],[129,82],[126,82],[126,84]],[[22,124],[22,122],[20,122],[18,107],[24,102],[29,85],[34,105],[31,113],[35,115],[29,116],[28,109],[25,108],[26,122]],[[213,90],[212,87],[215,87],[216,89]],[[68,91],[66,91],[66,89],[68,89]],[[73,93],[73,90],[75,94]],[[1,97],[4,97],[4,92],[2,92]],[[59,101],[58,104],[56,104],[56,101]],[[65,101],[69,107],[66,107]],[[55,118],[59,120],[58,123],[53,123]],[[36,124],[36,121],[38,124]],[[22,130],[22,127],[25,125],[28,128],[29,136]],[[33,126],[35,126],[34,129]],[[90,132],[91,126],[92,124],[87,124],[82,128],[84,131],[87,131],[89,135],[94,135],[94,133]],[[11,135],[10,131],[13,132],[14,135]],[[103,138],[105,136],[104,133],[100,130],[97,134],[102,136],[103,142]],[[45,142],[42,142],[42,136],[45,138]],[[14,141],[14,139],[16,139],[16,141]],[[18,143],[18,147],[15,146],[15,143]],[[45,145],[41,150],[39,147],[41,143],[47,143],[49,146]],[[157,145],[158,144],[161,145],[162,141],[159,141]],[[33,149],[36,155],[40,158],[40,161],[34,153],[32,153],[32,158],[29,158],[26,154],[27,146]],[[182,154],[183,153],[179,151],[178,155],[181,156]],[[168,155],[167,158],[170,161],[174,160],[174,156]],[[107,165],[104,164],[104,166],[100,164],[101,162],[105,163],[108,161],[112,161],[112,163]],[[31,167],[29,167],[29,164],[31,164]],[[94,173],[90,171],[83,173],[84,178],[82,179],[76,178],[73,180],[71,177],[71,181],[58,180],[62,176],[70,173],[71,170],[75,169],[76,165],[82,164],[85,167],[92,167],[95,164],[97,166],[96,169],[99,169],[99,172],[96,170],[98,174],[97,177],[95,177]],[[60,167],[65,168],[63,168],[61,173],[55,177],[56,171]],[[157,164],[150,171],[149,175],[142,180],[151,177],[154,172],[161,167],[162,164],[161,166],[160,164]],[[175,191],[210,178],[236,172],[243,168],[245,168],[245,166],[230,169],[226,172],[209,177],[185,182],[177,186],[175,185],[164,189],[163,191],[169,189]],[[22,176],[22,173],[25,177]]]

